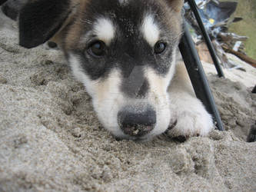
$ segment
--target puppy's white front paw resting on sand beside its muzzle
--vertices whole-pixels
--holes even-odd
[[[197,98],[184,98],[171,104],[169,137],[206,136],[214,128],[211,115]]]

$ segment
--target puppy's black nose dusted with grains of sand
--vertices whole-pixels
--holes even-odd
[[[124,108],[118,112],[118,124],[125,134],[141,137],[153,130],[156,113],[152,108]]]

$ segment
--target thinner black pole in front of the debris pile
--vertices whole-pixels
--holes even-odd
[[[204,24],[203,24],[203,22],[201,20],[201,16],[199,15],[198,5],[196,5],[194,0],[188,0],[188,4],[189,4],[192,12],[194,12],[194,17],[196,18],[196,20],[198,22],[198,25],[201,28],[202,35],[204,36],[204,40],[205,40],[206,45],[208,46],[208,49],[210,51],[212,61],[214,61],[215,68],[218,71],[218,76],[220,78],[224,78],[224,73],[223,73],[223,71],[221,69],[221,65],[220,65],[220,63],[218,61],[218,58],[216,56],[216,52],[215,52],[214,47],[213,47],[213,45],[211,43],[211,39],[210,39],[207,31],[205,30]]]

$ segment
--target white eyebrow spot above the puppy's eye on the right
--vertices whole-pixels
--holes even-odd
[[[141,28],[142,34],[151,47],[159,40],[160,31],[158,25],[155,24],[153,15],[147,15],[144,18]]]

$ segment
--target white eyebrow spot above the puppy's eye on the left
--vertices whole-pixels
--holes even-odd
[[[94,32],[101,41],[109,44],[115,37],[115,26],[109,18],[98,18],[94,25]]]

